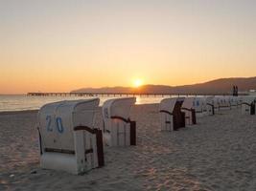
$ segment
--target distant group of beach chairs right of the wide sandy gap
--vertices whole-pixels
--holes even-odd
[[[242,114],[255,115],[254,96],[203,96],[165,98],[159,112],[162,131],[175,131],[197,123],[197,117],[212,116],[222,110],[242,108]]]

